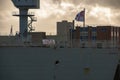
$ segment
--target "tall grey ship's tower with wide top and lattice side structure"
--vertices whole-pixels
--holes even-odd
[[[33,13],[28,13],[29,9],[39,9],[39,0],[12,0],[15,7],[19,9],[19,14],[14,13],[13,16],[20,17],[20,29],[19,35],[22,38],[27,37],[28,28],[29,31],[33,31],[32,22],[36,21]],[[31,21],[28,23],[28,17]]]

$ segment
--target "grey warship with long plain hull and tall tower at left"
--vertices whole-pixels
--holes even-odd
[[[39,0],[12,2],[20,10],[14,14],[20,17],[20,34],[8,37],[10,44],[0,45],[0,80],[120,80],[119,46],[75,47],[71,40],[70,46],[61,46],[48,39],[42,46],[29,43],[27,17],[34,21],[34,15],[28,9],[39,8]]]

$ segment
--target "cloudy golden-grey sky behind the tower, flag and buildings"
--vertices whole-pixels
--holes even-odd
[[[72,21],[77,13],[86,9],[86,25],[120,26],[120,0],[40,0],[40,9],[31,9],[37,17],[33,25],[35,31],[56,34],[56,22]],[[0,35],[19,31],[19,18],[12,16],[18,12],[11,0],[0,0]],[[82,25],[82,22],[75,22]]]

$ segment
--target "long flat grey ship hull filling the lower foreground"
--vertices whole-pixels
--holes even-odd
[[[3,47],[0,80],[113,80],[118,52],[117,49]]]

